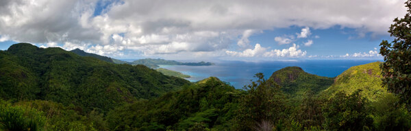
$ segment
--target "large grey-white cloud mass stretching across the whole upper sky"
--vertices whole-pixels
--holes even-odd
[[[239,36],[238,47],[248,47],[252,32],[247,30],[293,25],[305,27],[297,35],[299,38],[310,36],[310,28],[335,25],[387,34],[393,19],[406,13],[401,0],[123,0],[108,3],[108,8],[94,15],[97,3],[3,0],[0,35],[18,42],[45,46],[59,43],[67,49],[101,49],[110,54],[121,54],[125,49],[147,54],[221,51]],[[347,9],[349,12],[341,11]]]

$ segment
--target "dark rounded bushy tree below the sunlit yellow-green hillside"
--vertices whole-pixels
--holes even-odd
[[[367,99],[360,95],[360,90],[351,95],[336,93],[323,106],[326,130],[371,130],[373,119],[369,116]]]

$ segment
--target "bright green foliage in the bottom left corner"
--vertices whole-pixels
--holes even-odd
[[[42,112],[21,106],[11,106],[8,102],[0,102],[1,130],[43,130],[45,117]]]

